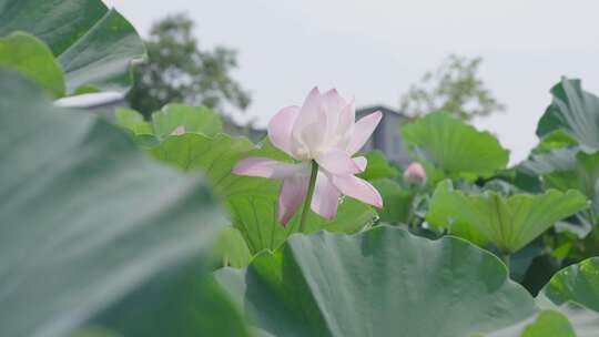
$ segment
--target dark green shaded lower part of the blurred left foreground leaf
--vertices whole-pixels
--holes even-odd
[[[187,265],[182,277],[164,270],[119,305],[94,318],[118,336],[250,337],[243,316],[202,266]]]

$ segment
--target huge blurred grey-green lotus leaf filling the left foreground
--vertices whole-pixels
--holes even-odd
[[[192,325],[195,336],[217,321],[237,328],[230,336],[244,336],[222,296],[205,297],[229,307],[226,321],[193,297],[204,288],[190,277],[205,275],[197,265],[225,223],[201,177],[152,161],[110,123],[55,108],[32,82],[6,71],[0,133],[1,336],[63,336],[128,293],[154,282],[180,289],[184,280],[193,285],[183,288],[193,306],[166,306],[163,316],[202,319]],[[160,298],[172,293],[146,293],[155,306],[143,309],[163,310]],[[140,312],[130,324],[146,318]]]

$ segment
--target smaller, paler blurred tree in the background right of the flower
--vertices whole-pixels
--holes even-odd
[[[408,116],[420,116],[444,110],[463,120],[486,116],[505,110],[478,76],[481,58],[451,54],[434,71],[423,75],[402,96],[399,110]]]

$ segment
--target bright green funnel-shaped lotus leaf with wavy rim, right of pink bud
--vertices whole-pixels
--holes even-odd
[[[466,195],[454,191],[451,183],[445,181],[433,195],[426,219],[450,231],[454,224],[459,224],[456,234],[466,232],[468,238],[481,235],[504,253],[515,253],[557,221],[586,207],[587,198],[575,190],[509,197],[490,191]]]

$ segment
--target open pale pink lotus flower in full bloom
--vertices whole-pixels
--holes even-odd
[[[313,162],[318,164],[311,202],[315,213],[328,219],[335,217],[342,194],[383,207],[383,198],[373,185],[355,176],[366,168],[366,159],[352,157],[382,116],[375,112],[356,122],[353,100],[345,100],[334,89],[322,94],[314,88],[302,108],[283,108],[268,123],[271,142],[298,163],[247,157],[237,162],[233,173],[283,180],[278,196],[282,224],[287,224],[304,203]]]

